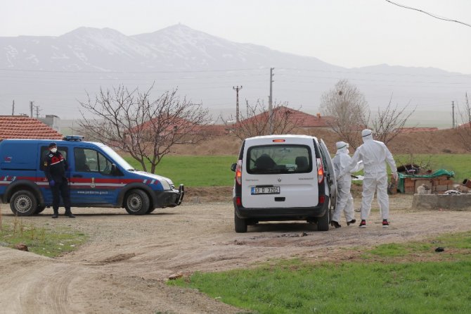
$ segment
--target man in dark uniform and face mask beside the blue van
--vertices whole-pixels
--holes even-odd
[[[60,196],[62,196],[64,203],[65,215],[69,218],[75,218],[75,215],[72,215],[70,211],[69,182],[65,177],[67,168],[67,161],[63,158],[62,153],[57,150],[56,143],[52,142],[49,144],[49,152],[44,156],[44,173],[47,180],[49,180],[52,192],[52,208],[54,211],[52,218],[58,218],[59,216]]]

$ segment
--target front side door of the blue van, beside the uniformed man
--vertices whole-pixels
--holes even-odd
[[[72,206],[115,205],[122,186],[120,177],[112,174],[112,161],[93,147],[76,146],[70,171]]]

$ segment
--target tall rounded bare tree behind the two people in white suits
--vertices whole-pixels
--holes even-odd
[[[321,96],[321,113],[330,116],[328,124],[342,139],[356,148],[361,144],[359,131],[367,125],[368,103],[359,89],[340,80],[333,89]]]

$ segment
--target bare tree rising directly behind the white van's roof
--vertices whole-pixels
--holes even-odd
[[[287,103],[278,103],[273,105],[270,119],[270,112],[264,102],[257,101],[254,106],[247,103],[247,113],[246,115],[240,113],[238,123],[233,123],[236,119],[231,115],[231,121],[225,121],[224,124],[239,139],[269,134],[286,134],[297,129],[302,123],[300,118],[295,117],[295,113],[296,111],[289,108]],[[273,132],[271,133],[270,130]]]

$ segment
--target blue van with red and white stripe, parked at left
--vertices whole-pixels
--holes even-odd
[[[43,158],[56,142],[68,163],[72,207],[126,208],[131,215],[179,206],[184,189],[167,177],[134,169],[110,147],[68,136],[62,141],[4,139],[0,142],[0,199],[15,215],[41,213],[52,206]],[[62,206],[62,204],[61,204]]]

